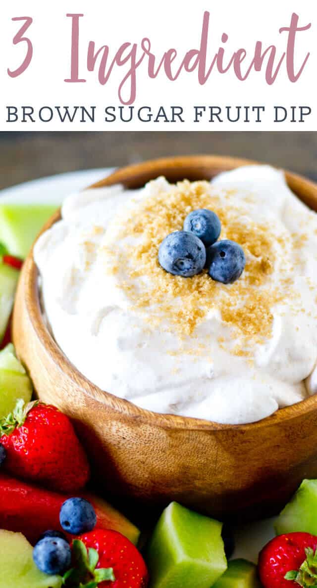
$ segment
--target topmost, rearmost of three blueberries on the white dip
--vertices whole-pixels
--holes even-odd
[[[221,223],[215,212],[199,208],[186,216],[183,229],[194,233],[208,247],[219,238]]]

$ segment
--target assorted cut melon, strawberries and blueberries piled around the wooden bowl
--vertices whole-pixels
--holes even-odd
[[[33,396],[10,339],[19,270],[51,212],[0,204],[0,588],[317,586],[317,480],[276,518],[257,565],[235,558],[228,522],[171,502],[145,533],[91,483],[74,424]]]

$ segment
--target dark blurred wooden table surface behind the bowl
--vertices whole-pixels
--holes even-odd
[[[0,189],[54,173],[194,153],[259,159],[317,181],[316,132],[2,132]]]

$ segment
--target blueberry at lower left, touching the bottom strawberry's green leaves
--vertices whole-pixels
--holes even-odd
[[[71,548],[61,537],[44,537],[33,550],[35,565],[45,574],[62,574],[71,565]]]

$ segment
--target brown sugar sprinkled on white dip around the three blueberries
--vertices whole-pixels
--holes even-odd
[[[136,237],[120,253],[107,249],[110,271],[124,266],[127,279],[120,282],[134,309],[147,309],[151,326],[178,333],[180,338],[193,336],[208,313],[219,312],[231,328],[232,338],[239,339],[232,349],[236,355],[248,355],[248,346],[263,342],[272,331],[272,306],[283,296],[290,296],[292,280],[285,289],[272,285],[270,275],[275,263],[278,241],[267,224],[243,222],[241,206],[235,206],[235,192],[217,192],[209,182],[183,181],[168,191],[149,196],[140,203],[124,223],[123,238]],[[213,210],[222,222],[220,239],[239,243],[246,254],[242,277],[232,285],[214,282],[203,270],[193,278],[165,272],[158,263],[158,248],[169,233],[181,230],[190,211]],[[279,246],[284,246],[280,239]],[[123,264],[123,265],[122,265]],[[150,276],[150,279],[149,279]],[[149,317],[149,318],[148,318]],[[236,342],[235,342],[236,343]],[[195,345],[195,343],[194,343]]]

